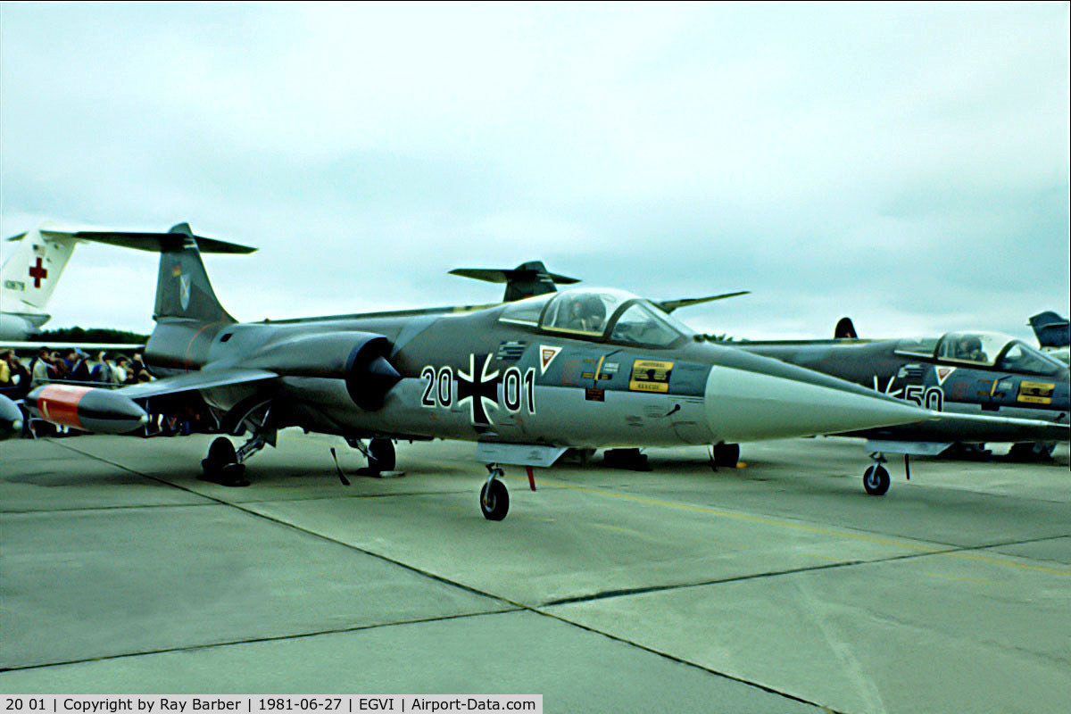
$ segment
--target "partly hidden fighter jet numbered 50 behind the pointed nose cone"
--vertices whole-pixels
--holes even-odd
[[[905,469],[908,455],[934,456],[953,444],[1010,441],[1016,442],[1013,456],[1045,457],[1071,434],[1068,366],[1022,340],[993,332],[858,339],[848,318],[834,335],[734,345],[940,412],[939,419],[845,435],[869,439],[875,464],[863,476],[868,491],[888,488],[887,453],[904,454]]]

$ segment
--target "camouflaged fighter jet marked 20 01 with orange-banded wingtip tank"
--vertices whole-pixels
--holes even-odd
[[[500,520],[509,508],[502,467],[526,467],[534,488],[531,467],[553,465],[569,447],[775,439],[931,415],[707,344],[651,302],[613,288],[465,313],[238,323],[209,284],[198,250],[206,239],[187,225],[109,238],[161,253],[145,359],[164,377],[111,392],[46,385],[27,402],[54,423],[120,434],[145,423],[147,400],[196,393],[225,432],[248,434],[238,449],[216,438],[201,461],[203,477],[227,485],[246,485],[247,459],[286,426],[342,436],[384,471],[394,468],[392,440],[469,440],[489,474],[481,511]]]

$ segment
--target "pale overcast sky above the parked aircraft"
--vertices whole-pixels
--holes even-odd
[[[255,245],[239,319],[491,302],[455,267],[659,299],[706,332],[1067,314],[1069,10],[0,6],[0,225]],[[4,244],[4,257],[10,250]],[[148,332],[156,257],[76,250],[48,328]]]

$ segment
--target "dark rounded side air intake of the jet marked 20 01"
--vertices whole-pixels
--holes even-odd
[[[353,404],[376,411],[402,380],[387,361],[390,349],[386,337],[368,332],[304,335],[265,346],[247,364],[282,377],[343,379]]]

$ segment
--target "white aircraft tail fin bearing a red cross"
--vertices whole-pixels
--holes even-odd
[[[17,245],[2,269],[5,312],[18,312],[19,306],[42,309],[52,297],[77,241],[69,234],[49,234],[49,226],[43,223],[7,239]]]

